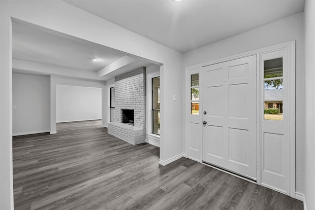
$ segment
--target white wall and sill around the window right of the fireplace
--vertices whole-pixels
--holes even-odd
[[[153,145],[159,146],[159,136],[152,134],[152,78],[159,76],[159,66],[151,65],[146,69],[146,79],[147,79],[147,131],[146,131],[146,142],[151,143]],[[148,137],[149,135],[149,137]]]

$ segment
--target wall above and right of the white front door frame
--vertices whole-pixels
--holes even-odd
[[[183,56],[183,69],[292,40],[296,40],[296,191],[303,194],[306,126],[306,113],[303,111],[305,106],[304,13],[298,13],[243,34],[187,52]],[[183,81],[186,81],[185,77],[183,77]],[[185,91],[185,88],[183,88],[183,91]]]

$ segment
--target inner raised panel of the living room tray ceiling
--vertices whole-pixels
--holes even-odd
[[[98,71],[124,56],[122,52],[92,42],[72,40],[14,22],[12,39],[13,59],[81,70]]]

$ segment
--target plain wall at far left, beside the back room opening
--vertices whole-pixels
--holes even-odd
[[[13,73],[13,135],[50,131],[50,78]]]

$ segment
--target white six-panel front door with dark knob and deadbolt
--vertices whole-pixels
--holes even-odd
[[[202,68],[202,161],[256,180],[256,55]]]

